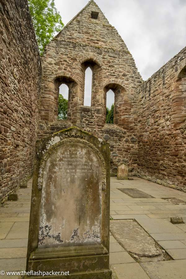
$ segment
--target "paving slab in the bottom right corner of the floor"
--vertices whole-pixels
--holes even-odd
[[[151,279],[185,279],[186,260],[140,263]],[[129,279],[130,277],[128,277]],[[133,277],[138,278],[138,277]],[[131,277],[131,279],[133,279]]]

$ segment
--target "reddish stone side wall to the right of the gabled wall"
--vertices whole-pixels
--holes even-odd
[[[186,48],[139,86],[138,175],[186,189]]]

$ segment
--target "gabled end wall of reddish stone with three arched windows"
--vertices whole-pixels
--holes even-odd
[[[91,13],[97,12],[98,18]],[[111,145],[111,173],[124,160],[137,174],[137,87],[142,78],[117,30],[90,1],[46,46],[42,56],[38,137],[70,126]],[[91,107],[84,106],[85,70],[93,72]],[[68,120],[57,120],[59,86],[69,87]],[[115,94],[114,124],[105,124],[106,93]]]

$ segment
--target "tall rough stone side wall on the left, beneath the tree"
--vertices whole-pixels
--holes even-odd
[[[28,3],[0,3],[0,200],[33,170],[41,66]]]

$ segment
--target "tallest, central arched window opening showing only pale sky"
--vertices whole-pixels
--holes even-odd
[[[88,67],[85,71],[84,106],[91,106],[92,96],[92,70]]]

